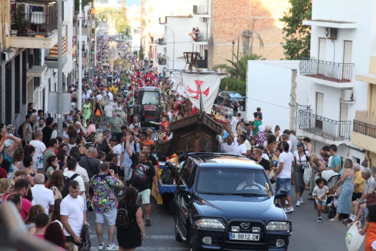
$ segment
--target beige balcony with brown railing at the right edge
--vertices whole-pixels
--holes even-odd
[[[356,111],[352,128],[351,143],[376,152],[376,117],[367,111]]]

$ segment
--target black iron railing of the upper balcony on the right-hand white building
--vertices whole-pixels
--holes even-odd
[[[301,75],[339,83],[351,82],[353,68],[352,63],[335,63],[306,57],[299,62]]]

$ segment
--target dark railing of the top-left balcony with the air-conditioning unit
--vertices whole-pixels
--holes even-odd
[[[57,28],[57,4],[51,0],[10,1],[12,36],[49,36]]]

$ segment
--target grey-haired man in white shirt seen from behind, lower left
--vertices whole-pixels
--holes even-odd
[[[35,174],[34,182],[35,185],[31,188],[31,192],[35,204],[42,205],[46,214],[51,213],[55,208],[54,192],[43,185],[45,178],[42,173]]]

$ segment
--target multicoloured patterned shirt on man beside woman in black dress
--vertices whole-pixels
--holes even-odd
[[[104,173],[94,175],[90,180],[90,186],[94,190],[91,206],[95,212],[106,213],[117,207],[113,189],[120,187],[120,182],[114,177]]]

